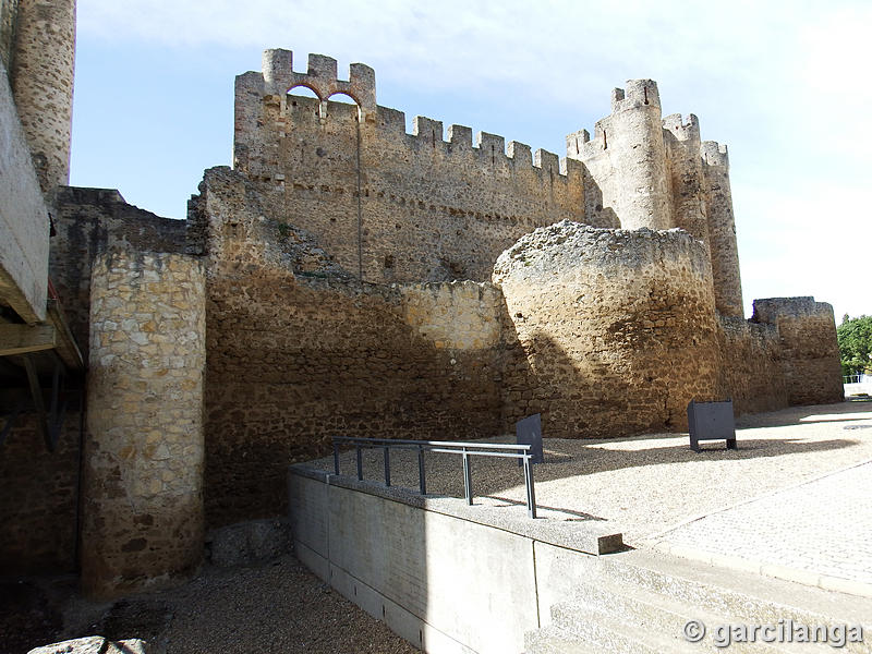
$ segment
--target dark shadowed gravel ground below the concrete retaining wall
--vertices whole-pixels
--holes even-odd
[[[31,604],[40,603],[50,619],[27,614],[24,622],[10,622],[14,609],[0,616],[0,652],[24,654],[34,646],[97,634],[140,638],[158,654],[417,652],[290,554],[256,567],[205,566],[181,588],[114,604],[84,601],[73,594],[71,580],[63,584],[17,584],[19,598],[29,593]],[[10,629],[4,630],[7,622]]]

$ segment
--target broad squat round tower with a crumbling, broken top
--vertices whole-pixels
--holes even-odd
[[[711,269],[682,231],[559,222],[494,268],[529,370],[507,370],[507,415],[550,437],[685,428],[720,370]]]

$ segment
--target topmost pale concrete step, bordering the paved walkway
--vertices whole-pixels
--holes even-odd
[[[590,586],[602,582],[603,588],[613,589],[613,595],[614,586],[620,586],[617,595],[628,597],[638,590],[649,594],[649,602],[652,595],[662,596],[678,603],[679,608],[688,606],[697,613],[723,617],[719,623],[777,625],[779,620],[792,620],[797,625],[827,627],[861,625],[867,642],[847,643],[841,651],[872,652],[872,601],[867,597],[643,550],[591,557],[583,565]],[[676,604],[671,606],[675,608]],[[667,625],[673,629],[675,622]],[[813,651],[810,644],[801,647],[803,652]]]

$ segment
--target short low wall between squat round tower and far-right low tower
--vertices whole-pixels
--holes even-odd
[[[736,415],[787,407],[777,327],[731,316],[718,318],[723,397],[732,399]]]

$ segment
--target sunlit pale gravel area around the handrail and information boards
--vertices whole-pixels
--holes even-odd
[[[737,421],[737,438],[738,450],[704,441],[700,453],[690,450],[687,434],[546,438],[545,463],[534,473],[536,504],[614,521],[625,542],[638,543],[691,517],[871,460],[872,401],[746,416]],[[364,461],[366,479],[384,480],[382,450],[367,451]],[[331,470],[332,459],[313,464]],[[354,474],[354,469],[353,451],[343,452],[342,472]],[[427,455],[426,476],[428,493],[462,497],[458,456]],[[472,479],[482,501],[524,501],[523,475],[513,461],[475,458]],[[413,452],[391,455],[391,482],[417,487]]]

